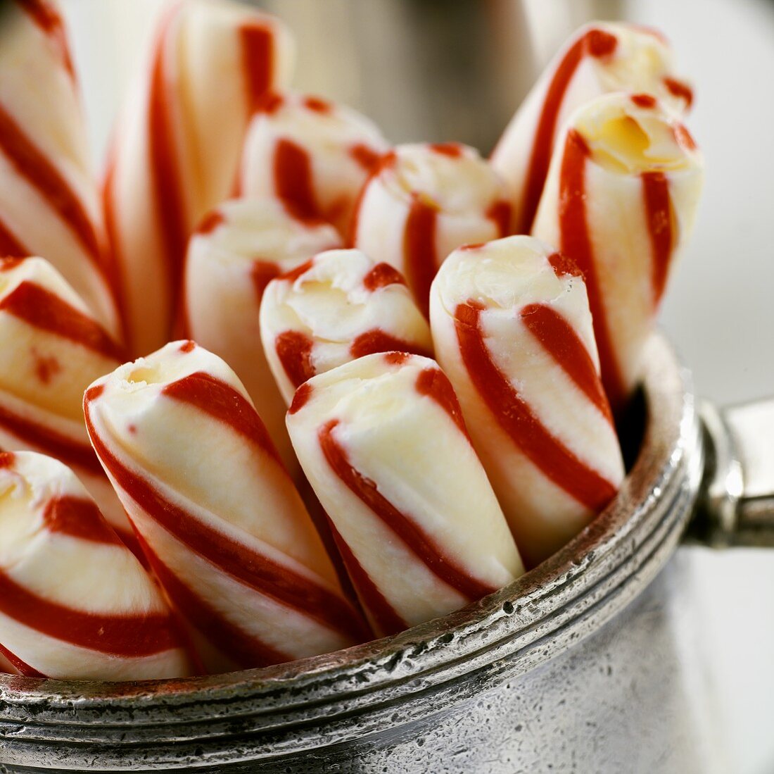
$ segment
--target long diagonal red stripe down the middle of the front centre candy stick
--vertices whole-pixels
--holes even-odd
[[[363,476],[351,465],[344,447],[334,438],[334,429],[338,424],[337,419],[329,421],[320,428],[318,438],[330,469],[344,483],[344,486],[348,487],[377,518],[394,531],[406,547],[424,562],[430,572],[464,597],[478,600],[495,591],[494,587],[482,583],[465,569],[456,566],[454,560],[444,554],[440,546],[426,534],[423,528],[387,500],[379,492],[374,481]]]

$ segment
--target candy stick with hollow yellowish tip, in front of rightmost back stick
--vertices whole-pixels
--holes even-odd
[[[597,98],[561,134],[533,233],[584,274],[616,412],[642,374],[643,346],[690,236],[703,179],[694,139],[650,95]]]

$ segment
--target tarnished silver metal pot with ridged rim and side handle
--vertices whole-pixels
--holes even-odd
[[[700,677],[687,674],[680,562],[662,570],[687,534],[774,545],[774,402],[706,407],[700,421],[663,338],[647,362],[645,431],[621,493],[516,583],[399,635],[268,669],[146,683],[3,676],[0,770],[727,770]]]

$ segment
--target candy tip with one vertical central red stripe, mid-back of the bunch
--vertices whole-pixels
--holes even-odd
[[[473,148],[397,146],[362,191],[354,246],[402,271],[427,315],[430,283],[453,249],[510,233],[506,197],[504,182]]]

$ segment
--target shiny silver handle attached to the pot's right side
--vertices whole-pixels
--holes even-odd
[[[704,545],[774,548],[774,398],[700,404],[706,462],[686,537]]]

